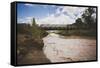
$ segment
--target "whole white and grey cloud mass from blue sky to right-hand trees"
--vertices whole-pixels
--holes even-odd
[[[38,24],[72,24],[81,17],[85,7],[59,7],[56,13],[49,14],[43,19],[37,20]],[[66,13],[66,14],[64,14]]]

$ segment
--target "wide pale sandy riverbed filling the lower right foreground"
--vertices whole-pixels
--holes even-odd
[[[86,38],[61,38],[50,33],[43,38],[43,51],[51,62],[96,60],[96,40]]]

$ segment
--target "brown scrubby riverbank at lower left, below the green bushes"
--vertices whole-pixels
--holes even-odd
[[[50,63],[42,48],[43,41],[31,38],[25,34],[17,35],[17,64],[40,64]]]

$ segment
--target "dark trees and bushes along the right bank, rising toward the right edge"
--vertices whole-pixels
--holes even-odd
[[[96,14],[94,8],[87,8],[81,18],[77,18],[75,23],[68,25],[66,30],[60,30],[59,34],[96,37],[96,18],[93,14]]]

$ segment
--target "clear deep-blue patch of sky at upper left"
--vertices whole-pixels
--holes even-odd
[[[17,4],[17,16],[18,22],[21,23],[21,20],[25,20],[27,17],[34,17],[35,19],[42,19],[48,14],[55,13],[57,7],[48,6],[48,5],[36,5],[36,4]]]

